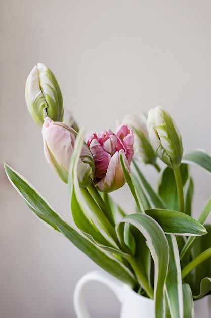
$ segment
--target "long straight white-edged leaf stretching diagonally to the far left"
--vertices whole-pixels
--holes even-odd
[[[126,266],[124,266],[110,253],[93,244],[77,229],[74,229],[71,225],[64,221],[55,211],[53,211],[37,190],[15,170],[6,164],[5,170],[12,185],[38,217],[41,216],[42,220],[45,219],[45,222],[61,232],[77,248],[84,252],[105,271],[130,285],[132,288],[135,286],[136,281],[134,275]]]

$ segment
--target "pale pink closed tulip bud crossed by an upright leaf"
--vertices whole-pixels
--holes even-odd
[[[47,162],[59,177],[67,183],[71,155],[77,132],[62,122],[55,122],[49,117],[44,119],[43,129],[44,154]],[[77,166],[78,181],[81,187],[90,185],[94,178],[95,164],[90,149],[84,144]]]

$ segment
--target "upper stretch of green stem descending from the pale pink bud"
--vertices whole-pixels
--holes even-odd
[[[108,218],[106,217],[105,213],[100,209],[98,204],[93,199],[92,195],[89,193],[87,188],[81,188],[81,193],[86,199],[86,202],[93,213],[98,218],[100,224],[102,225],[103,229],[108,233],[108,235],[114,240],[114,242],[119,246],[119,241],[116,235],[115,227],[110,223]]]

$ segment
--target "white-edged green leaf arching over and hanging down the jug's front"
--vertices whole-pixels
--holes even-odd
[[[125,216],[117,225],[119,240],[123,242],[124,223],[136,227],[146,238],[154,260],[154,300],[156,318],[165,317],[165,279],[168,270],[168,242],[159,224],[150,216],[136,213]],[[137,264],[139,266],[139,264]]]

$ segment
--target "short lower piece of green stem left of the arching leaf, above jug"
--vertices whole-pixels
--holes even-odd
[[[126,257],[126,259],[128,260],[131,267],[133,268],[134,273],[141,287],[145,290],[149,298],[153,299],[153,296],[154,296],[153,288],[149,285],[149,282],[146,276],[143,274],[143,271],[141,270],[141,267],[137,264],[134,256],[129,255],[128,257]]]

